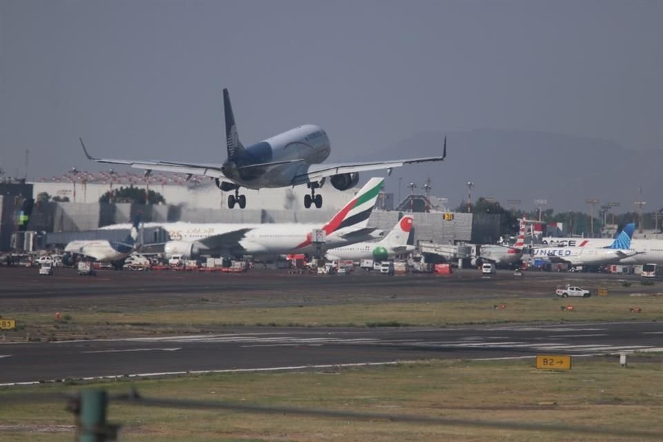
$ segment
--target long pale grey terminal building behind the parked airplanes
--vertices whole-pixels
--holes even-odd
[[[117,189],[131,186],[160,193],[166,204],[134,204],[113,198]],[[122,239],[126,236],[124,231],[97,229],[130,222],[137,213],[141,213],[144,222],[324,223],[358,190],[338,191],[330,185],[323,186],[318,190],[323,195],[323,208],[305,209],[303,200],[308,193],[305,186],[260,191],[242,189],[247,195],[247,209],[228,209],[230,193],[218,189],[213,181],[195,177],[186,180],[184,175],[177,174],[144,177],[135,173],[72,171],[48,180],[23,183],[22,187],[15,185],[12,189],[11,196],[8,194],[3,201],[0,251],[61,247],[75,239],[115,240],[117,238],[111,238],[115,235]],[[107,193],[112,202],[99,202]],[[29,198],[35,199],[35,207],[26,229],[29,233],[21,233],[17,222],[21,200]],[[415,244],[496,242],[499,239],[499,215],[452,213],[446,209],[445,201],[427,192],[423,198],[408,195],[403,201],[395,202],[393,193],[383,192],[369,225],[389,231],[402,213],[412,213]],[[144,240],[169,240],[164,234],[159,229],[146,229]],[[15,240],[12,242],[10,238]]]

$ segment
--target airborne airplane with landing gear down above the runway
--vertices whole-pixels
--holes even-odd
[[[137,169],[151,171],[165,171],[204,175],[215,180],[216,186],[224,192],[235,191],[228,197],[228,207],[232,209],[236,204],[240,209],[247,205],[246,195],[240,195],[241,187],[247,189],[262,189],[265,187],[289,187],[306,184],[311,189],[310,195],[305,195],[304,206],[308,209],[311,204],[319,209],[323,206],[322,195],[316,195],[316,189],[325,184],[327,178],[334,188],[344,191],[350,189],[359,181],[359,172],[388,169],[391,173],[394,167],[404,164],[414,164],[429,161],[442,161],[447,155],[447,140],[444,139],[441,156],[412,158],[408,160],[354,162],[337,164],[320,164],[327,159],[331,152],[331,144],[327,133],[319,126],[305,124],[280,133],[267,140],[244,147],[240,142],[233,108],[230,104],[230,95],[227,89],[223,90],[223,104],[226,124],[226,144],[228,157],[223,164],[193,164],[189,162],[169,161],[134,161],[134,160],[108,160],[91,156],[83,140],[81,146],[88,157],[100,163],[128,164]]]

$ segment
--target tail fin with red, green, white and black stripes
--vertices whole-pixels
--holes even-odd
[[[345,204],[343,209],[340,209],[332,220],[325,224],[323,227],[325,233],[329,235],[345,227],[353,227],[355,229],[365,228],[384,184],[384,178],[371,178],[368,180],[361,190],[354,195],[354,198]]]

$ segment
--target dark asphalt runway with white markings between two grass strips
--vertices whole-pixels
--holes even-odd
[[[241,327],[224,334],[2,344],[0,384],[302,369],[430,358],[593,356],[636,351],[663,352],[663,323],[443,329]]]

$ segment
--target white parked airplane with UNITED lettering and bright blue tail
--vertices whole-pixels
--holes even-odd
[[[622,233],[607,247],[539,247],[532,249],[532,258],[547,258],[552,262],[566,262],[570,265],[615,264],[624,258],[637,254],[631,247],[631,237],[635,224],[624,226]]]

